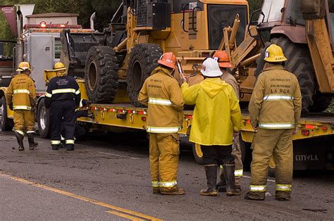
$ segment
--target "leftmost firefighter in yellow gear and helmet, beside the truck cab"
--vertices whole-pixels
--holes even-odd
[[[14,110],[14,127],[18,150],[23,151],[23,139],[25,132],[29,142],[29,149],[38,146],[34,141],[35,134],[35,103],[36,88],[34,81],[29,77],[31,73],[30,63],[21,62],[6,92],[6,100],[11,110]]]

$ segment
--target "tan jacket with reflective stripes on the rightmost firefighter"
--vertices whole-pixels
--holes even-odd
[[[302,94],[297,77],[282,65],[273,65],[259,75],[249,115],[253,126],[262,129],[291,129],[300,119]]]

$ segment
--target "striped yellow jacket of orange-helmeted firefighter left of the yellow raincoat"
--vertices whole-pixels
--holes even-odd
[[[183,122],[183,96],[168,69],[158,67],[145,80],[138,101],[148,106],[147,132],[177,133]]]

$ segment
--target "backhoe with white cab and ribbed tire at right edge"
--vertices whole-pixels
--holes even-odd
[[[264,0],[256,12],[259,20],[252,22],[251,15],[247,37],[238,47],[230,48],[224,30],[221,48],[230,55],[234,72],[247,77],[244,72],[256,59],[257,77],[264,68],[266,46],[278,44],[287,57],[285,68],[299,80],[303,112],[326,110],[334,92],[334,1]]]

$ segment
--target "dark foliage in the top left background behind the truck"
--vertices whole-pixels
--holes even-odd
[[[35,4],[34,14],[37,13],[78,13],[78,23],[89,28],[89,18],[97,12],[95,29],[102,30],[108,26],[113,13],[116,11],[121,0],[0,0],[0,5]],[[11,33],[6,18],[0,13],[0,39],[15,39]]]

